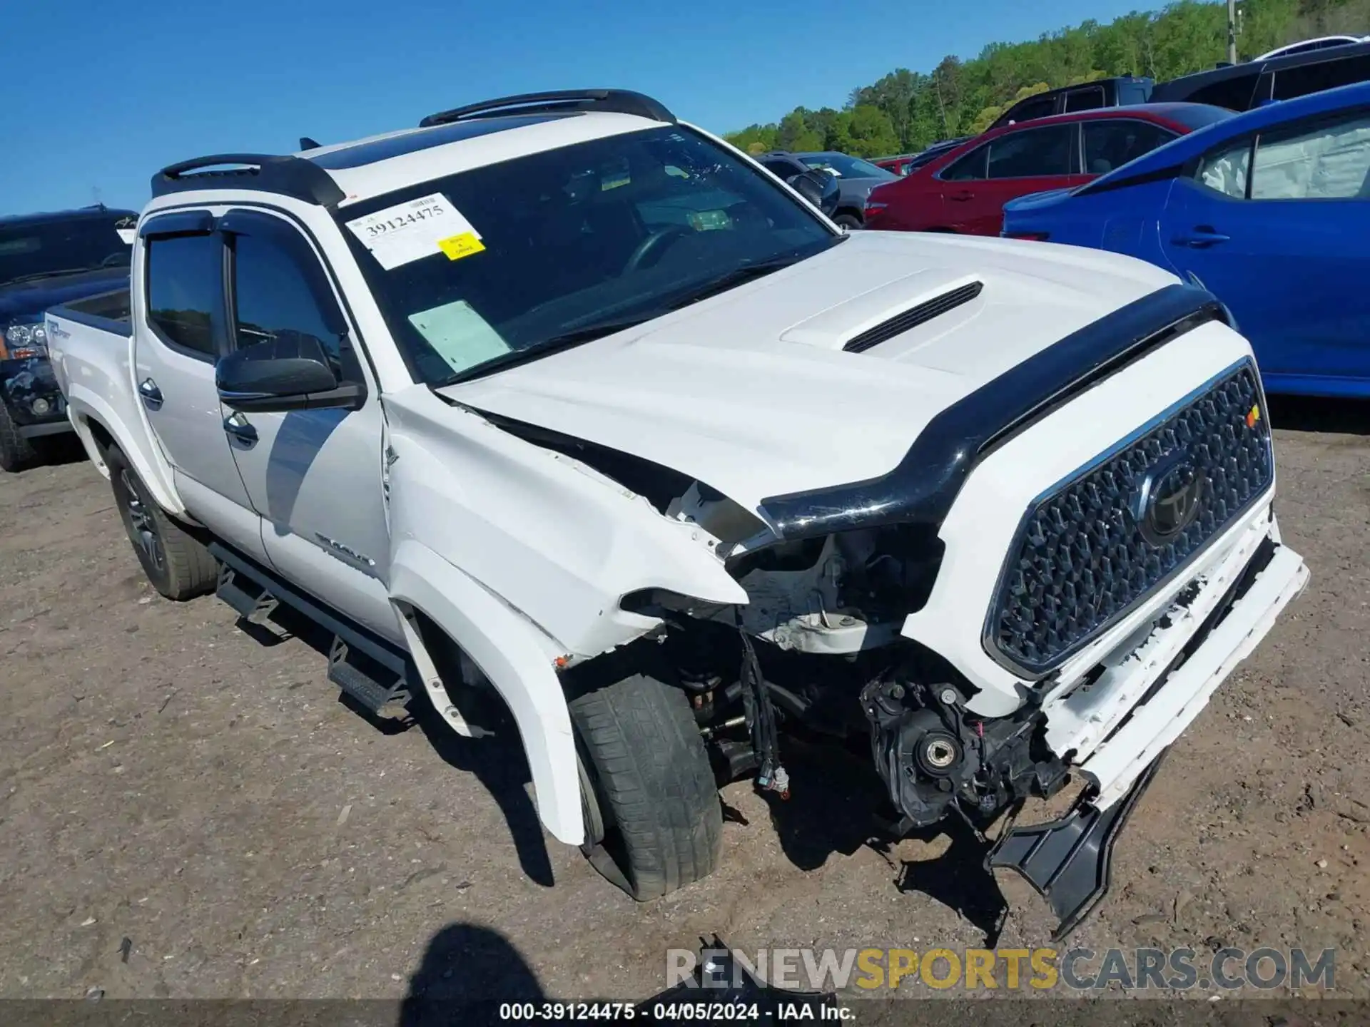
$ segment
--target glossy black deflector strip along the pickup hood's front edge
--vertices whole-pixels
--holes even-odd
[[[975,464],[1073,397],[1228,308],[1193,285],[1170,285],[1073,331],[933,418],[889,474],[762,500],[782,540],[896,523],[940,530]]]

